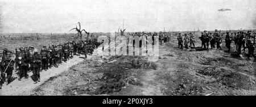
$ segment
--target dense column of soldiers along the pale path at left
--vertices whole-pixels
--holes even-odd
[[[48,68],[58,67],[61,63],[66,62],[73,55],[92,54],[93,49],[100,45],[96,39],[86,41],[71,41],[64,44],[43,46],[40,50],[34,49],[33,46],[20,47],[19,50],[11,52],[8,49],[3,49],[3,54],[0,57],[0,89],[2,85],[10,83],[13,70],[18,74],[18,80],[28,79],[28,71],[32,71],[33,80],[36,83],[40,82],[40,72],[47,71]],[[11,58],[11,54],[15,54],[15,59]],[[14,69],[15,68],[15,69]]]

